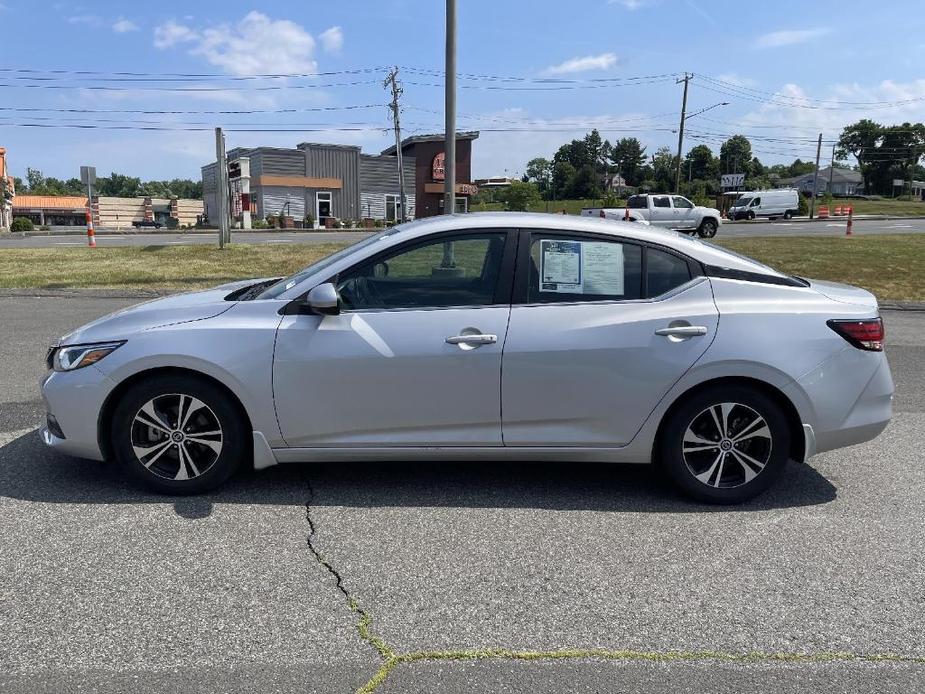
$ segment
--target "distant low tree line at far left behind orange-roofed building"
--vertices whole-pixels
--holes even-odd
[[[60,179],[45,176],[38,169],[26,169],[26,180],[14,178],[19,195],[86,195],[87,188],[79,178]],[[202,181],[174,178],[170,181],[142,181],[134,176],[111,173],[98,177],[93,186],[94,195],[114,198],[192,198],[202,199]]]

